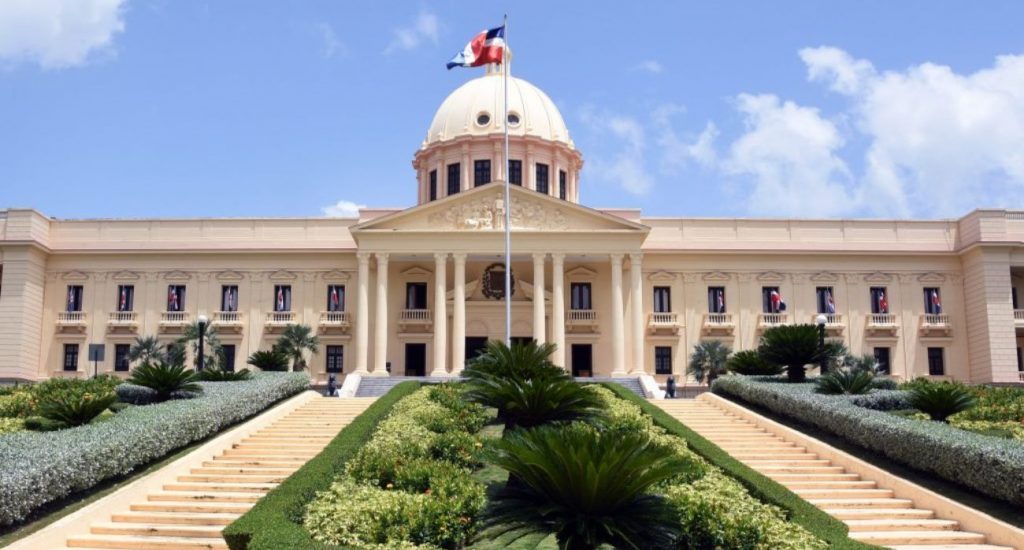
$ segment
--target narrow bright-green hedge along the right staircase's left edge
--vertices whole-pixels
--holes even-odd
[[[791,521],[826,541],[831,548],[876,548],[848,538],[845,523],[821,511],[813,504],[801,499],[792,491],[743,465],[718,446],[705,439],[695,431],[673,418],[672,415],[648,403],[647,399],[640,397],[618,384],[605,384],[605,386],[614,391],[620,397],[640,407],[644,413],[654,419],[655,424],[685,439],[686,445],[694,453],[739,480],[751,495],[754,495],[762,502],[773,504],[785,510]]]

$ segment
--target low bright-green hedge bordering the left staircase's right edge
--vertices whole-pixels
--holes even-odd
[[[224,530],[232,550],[328,548],[302,525],[306,505],[316,492],[331,486],[345,463],[370,439],[377,424],[402,397],[419,389],[419,382],[402,382],[378,398],[345,426],[324,451],[260,499],[245,515]]]

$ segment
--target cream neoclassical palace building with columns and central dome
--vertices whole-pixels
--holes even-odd
[[[137,336],[206,315],[236,368],[289,324],[328,373],[452,375],[505,333],[580,376],[685,372],[693,346],[816,323],[894,376],[1018,382],[1024,211],[958,219],[646,217],[581,197],[551,99],[493,69],[453,92],[413,158],[417,205],[351,218],[55,219],[0,211],[0,379],[127,371]],[[511,135],[505,170],[503,133]],[[783,306],[784,304],[784,306]],[[649,378],[645,379],[649,380]]]

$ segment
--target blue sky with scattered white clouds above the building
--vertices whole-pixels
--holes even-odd
[[[487,5],[0,1],[0,208],[410,206],[434,110],[481,72],[444,62],[506,9],[514,74],[551,95],[583,151],[586,205],[1024,207],[1024,3]]]

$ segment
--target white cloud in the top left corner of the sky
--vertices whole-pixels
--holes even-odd
[[[2,0],[0,60],[44,69],[85,64],[124,31],[126,0]]]

